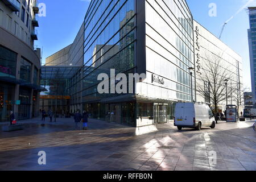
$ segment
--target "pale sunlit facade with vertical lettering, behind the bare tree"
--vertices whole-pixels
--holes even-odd
[[[197,82],[196,101],[208,103],[212,108],[214,107],[213,101],[210,99],[210,97],[213,97],[213,94],[210,94],[210,92],[213,92],[213,89],[210,89],[209,82],[207,80],[202,80],[202,78],[205,78],[205,74],[213,73],[209,70],[210,68],[221,67],[218,71],[225,72],[225,75],[228,76],[222,78],[222,80],[228,78],[228,105],[237,106],[237,102],[239,102],[238,107],[240,113],[244,108],[242,57],[226,46],[225,43],[195,20],[193,21],[193,26],[195,42],[195,72]],[[209,67],[209,64],[212,65],[212,67]],[[218,82],[217,84],[221,84],[221,82]],[[224,92],[222,93],[224,96],[220,97],[223,100],[218,103],[217,108],[217,111],[220,112],[225,111],[226,108],[225,82],[222,82],[222,84],[222,88],[220,89],[224,89]],[[213,85],[213,82],[211,82],[211,85]],[[204,89],[203,92],[200,90],[201,87]],[[209,94],[207,94],[207,90],[209,90]]]

